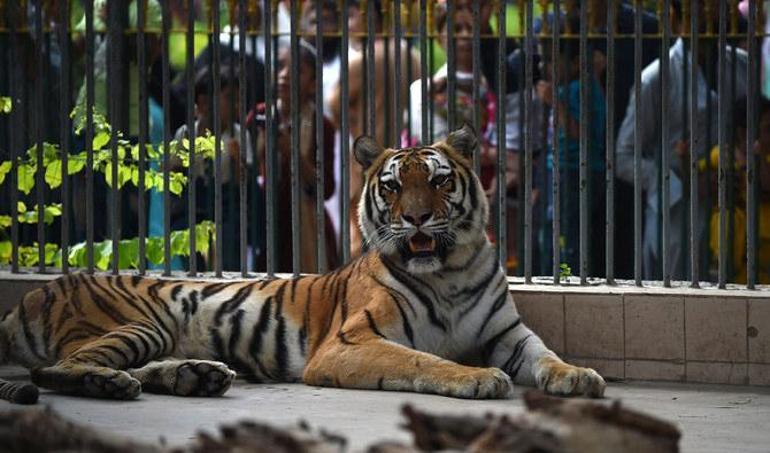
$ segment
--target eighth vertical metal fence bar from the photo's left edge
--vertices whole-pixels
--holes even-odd
[[[186,36],[186,78],[187,78],[187,148],[190,166],[187,167],[187,225],[190,229],[190,272],[194,277],[197,272],[198,259],[195,246],[195,180],[197,178],[195,164],[195,137],[198,128],[195,125],[195,1],[187,1],[187,36]],[[218,38],[218,37],[217,37]],[[243,47],[241,47],[243,49]]]

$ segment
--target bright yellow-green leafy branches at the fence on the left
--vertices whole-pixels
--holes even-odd
[[[8,113],[12,108],[10,98],[0,97],[0,113]],[[77,134],[84,133],[86,127],[86,115],[83,105],[78,105],[72,111],[73,124],[75,126],[75,132]],[[104,115],[99,114],[96,110],[93,112],[93,126],[94,126],[94,138],[92,141],[92,157],[94,172],[100,172],[104,175],[107,184],[112,187],[113,178],[112,170],[113,166],[117,164],[117,188],[122,188],[125,184],[130,183],[135,187],[139,187],[139,145],[131,144],[123,138],[122,133],[117,132],[114,134],[110,124],[107,122]],[[113,142],[113,138],[115,141]],[[194,152],[197,159],[213,159],[214,158],[214,142],[215,138],[211,134],[207,134],[203,137],[197,137],[195,140]],[[113,154],[113,146],[115,144],[117,151],[117,159]],[[190,143],[187,139],[179,142],[172,141],[169,143],[168,156],[173,165],[177,167],[188,168],[190,165],[189,156]],[[224,147],[222,147],[224,149]],[[145,146],[145,171],[144,171],[144,187],[145,190],[155,189],[157,191],[164,191],[166,186],[163,181],[163,172],[156,170],[160,168],[164,158],[163,146],[154,147],[147,144]],[[17,182],[18,189],[22,193],[29,195],[35,188],[36,184],[36,172],[38,171],[38,165],[42,164],[42,170],[44,172],[44,180],[46,185],[50,189],[57,189],[62,184],[62,150],[58,144],[44,143],[42,147],[42,161],[38,160],[38,147],[33,145],[30,147],[24,155],[19,156],[16,160],[17,170]],[[86,168],[87,153],[81,151],[79,153],[68,152],[67,160],[67,174],[75,175]],[[151,167],[150,164],[157,163],[158,165]],[[11,161],[0,162],[0,184],[5,182],[6,175],[12,170],[13,163]],[[174,195],[181,195],[185,186],[188,183],[187,175],[185,172],[169,171],[169,183],[168,190]],[[51,224],[56,217],[61,216],[62,206],[60,203],[54,203],[44,206],[43,209],[43,222],[45,224]],[[23,202],[19,202],[17,205],[17,220],[22,224],[36,224],[39,221],[39,212],[37,205],[28,209]],[[7,238],[5,230],[12,224],[11,215],[0,215],[0,239]],[[215,226],[211,221],[203,221],[195,226],[196,237],[196,249],[199,253],[207,255],[211,247],[211,240],[214,236]],[[170,252],[172,257],[185,257],[190,254],[190,231],[180,230],[172,231],[170,233]],[[112,263],[112,241],[106,240],[94,244],[94,266],[100,270],[106,270]],[[0,265],[9,264],[11,261],[12,245],[8,240],[0,240]],[[38,264],[38,245],[33,243],[32,245],[19,245],[19,265],[23,267],[35,266]],[[139,266],[139,239],[121,239],[118,243],[119,253],[119,267],[121,269],[137,268]],[[145,256],[153,264],[161,265],[164,262],[164,242],[162,237],[149,237],[147,238],[145,245]],[[67,262],[71,266],[85,267],[87,266],[87,253],[86,243],[82,242],[75,244],[69,248],[68,255],[66,257]],[[50,243],[45,244],[45,262],[46,265],[61,266],[63,261],[62,250],[57,244]]]

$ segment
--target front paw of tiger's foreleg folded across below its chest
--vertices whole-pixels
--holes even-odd
[[[429,382],[418,382],[416,390],[430,391],[429,386]],[[434,383],[432,390],[432,393],[455,398],[509,398],[513,394],[513,382],[510,376],[499,368],[477,368],[442,377],[439,382]]]

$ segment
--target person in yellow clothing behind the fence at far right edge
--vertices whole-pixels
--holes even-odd
[[[730,281],[746,283],[746,169],[747,159],[754,159],[755,175],[757,175],[759,190],[757,191],[757,283],[770,283],[770,100],[760,97],[757,101],[757,137],[752,147],[746,149],[746,99],[739,99],[733,107],[733,121],[735,124],[735,141],[732,156],[728,155],[729,162],[733,162],[732,172],[728,171],[728,194],[732,191],[732,197],[728,195],[728,250],[732,251],[730,265],[733,277]],[[731,158],[732,157],[732,158]],[[698,172],[703,181],[701,188],[709,185],[711,193],[719,190],[717,184],[717,172],[719,168],[719,147],[714,146],[708,156],[698,162]],[[712,262],[719,259],[719,208],[714,206],[709,216],[709,251]]]

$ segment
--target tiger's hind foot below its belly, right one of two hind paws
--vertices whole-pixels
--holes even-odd
[[[222,396],[235,378],[227,365],[210,360],[164,359],[127,371],[144,391],[177,396]]]

